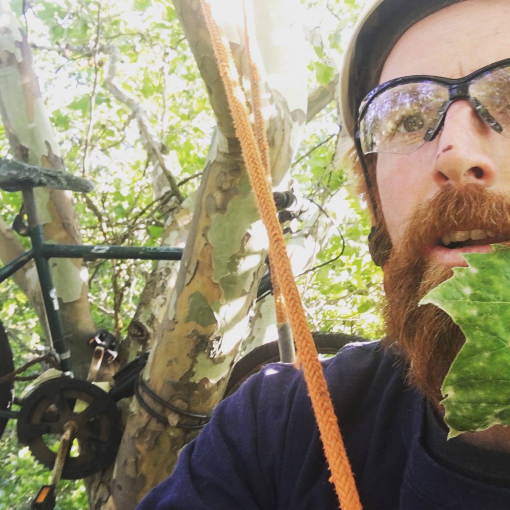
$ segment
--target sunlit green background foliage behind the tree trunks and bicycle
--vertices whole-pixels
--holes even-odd
[[[303,57],[309,59],[312,90],[335,77],[345,39],[341,30],[352,25],[360,2],[334,1],[326,7],[322,0],[302,3],[312,20],[310,51]],[[173,6],[166,0],[30,4],[16,0],[11,4],[20,15],[22,5],[28,6],[26,26],[34,65],[65,166],[96,184],[86,197],[75,196],[83,241],[159,245],[176,201],[165,177],[155,179],[154,150],[140,136],[137,115],[143,115],[184,198],[198,188],[215,126]],[[21,24],[25,27],[24,19]],[[113,64],[113,83],[121,92],[117,96],[107,80]],[[381,273],[367,253],[369,224],[365,209],[349,191],[348,170],[333,164],[337,134],[332,103],[306,127],[292,168],[296,187],[309,208],[299,215],[295,233],[288,237],[292,240],[310,231],[310,236],[319,239],[314,264],[322,266],[298,278],[313,329],[377,338]],[[5,156],[8,150],[0,126],[0,154]],[[2,218],[11,224],[21,197],[0,195]],[[98,261],[87,263],[87,268],[97,326],[123,337],[151,264]],[[1,318],[9,326],[19,366],[44,349],[39,322],[14,285],[3,284],[0,291]],[[0,467],[0,509],[2,505],[20,508],[49,473],[31,464],[12,429],[0,443],[0,451],[5,459]],[[82,484],[65,483],[59,504],[69,510],[85,508]]]

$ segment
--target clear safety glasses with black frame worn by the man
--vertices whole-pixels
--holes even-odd
[[[379,85],[360,105],[356,145],[363,154],[411,154],[436,137],[457,99],[469,101],[484,122],[510,138],[510,59],[457,80],[416,75]]]

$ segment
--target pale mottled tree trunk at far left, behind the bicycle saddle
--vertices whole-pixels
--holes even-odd
[[[18,161],[62,170],[58,143],[32,68],[30,46],[13,13],[4,4],[0,5],[0,19],[0,115],[11,152]],[[36,200],[48,241],[80,242],[78,220],[69,192],[37,189]],[[95,327],[88,307],[82,263],[80,260],[52,261],[52,272],[73,370],[85,377],[90,363],[87,340]],[[28,288],[22,290],[30,292]],[[36,310],[41,313],[40,309]],[[40,317],[44,322],[44,315]]]

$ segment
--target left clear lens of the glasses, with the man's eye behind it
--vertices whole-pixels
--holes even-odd
[[[448,101],[448,87],[434,82],[396,85],[378,94],[360,122],[363,152],[411,154],[427,141]]]

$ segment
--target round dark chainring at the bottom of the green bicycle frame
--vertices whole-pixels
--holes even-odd
[[[76,480],[107,468],[122,435],[120,413],[108,393],[81,379],[49,379],[25,397],[17,420],[18,441],[52,469],[68,421],[78,427],[78,449],[71,448],[67,455],[62,478]]]

